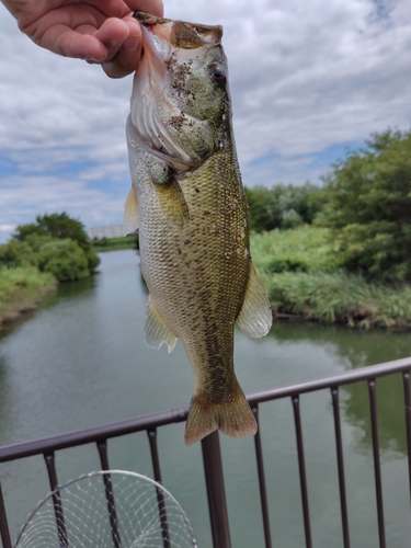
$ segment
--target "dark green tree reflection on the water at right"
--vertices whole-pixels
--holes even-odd
[[[357,331],[342,326],[277,321],[271,331],[278,344],[309,341],[327,347],[330,357],[346,370],[411,355],[409,332]],[[342,410],[349,424],[357,429],[358,450],[369,452],[372,430],[367,383],[341,389]],[[407,454],[404,399],[401,375],[377,380],[379,443],[384,458]]]

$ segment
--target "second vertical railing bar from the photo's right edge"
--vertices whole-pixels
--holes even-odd
[[[372,436],[373,436],[373,457],[374,457],[374,477],[375,477],[375,492],[377,502],[377,517],[378,517],[378,536],[380,548],[386,548],[386,532],[384,524],[384,505],[383,505],[383,484],[381,484],[381,467],[379,461],[379,436],[378,436],[378,420],[377,420],[377,398],[375,390],[375,378],[368,380],[369,392],[369,411],[372,421]]]

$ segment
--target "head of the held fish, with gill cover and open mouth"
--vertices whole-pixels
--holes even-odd
[[[230,127],[222,28],[135,16],[144,55],[134,80],[130,130],[174,170],[195,169],[221,147]]]

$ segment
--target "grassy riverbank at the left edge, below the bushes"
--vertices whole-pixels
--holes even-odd
[[[39,272],[35,266],[0,269],[0,330],[35,310],[57,285],[52,274]]]

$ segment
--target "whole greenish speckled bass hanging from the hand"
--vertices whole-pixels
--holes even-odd
[[[222,27],[136,12],[142,57],[127,118],[132,190],[124,232],[138,228],[149,289],[145,341],[182,342],[195,383],[184,441],[256,433],[233,367],[235,324],[265,335],[272,309],[250,255]]]

